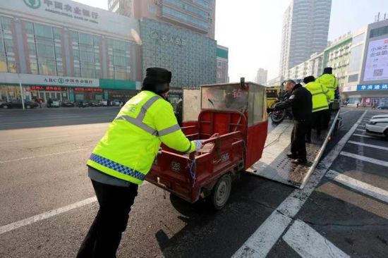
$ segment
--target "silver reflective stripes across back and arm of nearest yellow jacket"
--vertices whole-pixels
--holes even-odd
[[[145,102],[145,104],[143,104],[143,106],[141,107],[140,113],[138,114],[138,116],[136,118],[123,115],[123,116],[116,117],[116,120],[126,120],[127,122],[138,126],[138,128],[145,130],[147,133],[150,133],[151,135],[155,135],[155,136],[159,136],[159,137],[162,137],[164,135],[168,135],[170,133],[174,133],[177,130],[181,130],[181,127],[178,124],[176,124],[176,125],[172,125],[169,128],[160,130],[158,132],[154,128],[151,128],[150,125],[143,123],[143,120],[145,118],[145,113],[147,113],[147,110],[150,109],[152,104],[154,104],[154,102],[156,102],[159,98],[160,97],[154,96],[154,97],[148,99],[147,102]],[[190,145],[190,147],[191,147],[191,145]]]

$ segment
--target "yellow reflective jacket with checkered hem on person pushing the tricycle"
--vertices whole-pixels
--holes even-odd
[[[161,142],[179,152],[195,151],[195,143],[181,131],[171,104],[154,92],[142,91],[121,108],[87,165],[140,185]]]

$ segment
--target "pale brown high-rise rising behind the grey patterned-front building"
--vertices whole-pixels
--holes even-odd
[[[109,11],[149,18],[214,39],[215,0],[108,0]]]

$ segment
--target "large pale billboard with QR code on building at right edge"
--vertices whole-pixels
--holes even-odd
[[[369,42],[363,81],[388,80],[388,38]]]

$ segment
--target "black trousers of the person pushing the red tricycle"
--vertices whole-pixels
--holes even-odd
[[[138,195],[138,185],[106,185],[92,180],[99,211],[83,240],[77,257],[116,257],[121,233],[126,230],[128,214]]]

